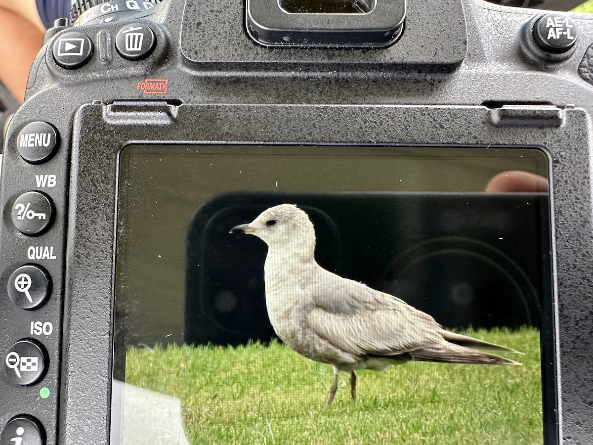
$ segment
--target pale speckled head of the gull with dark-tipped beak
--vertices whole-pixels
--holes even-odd
[[[285,247],[295,242],[315,246],[315,229],[308,215],[294,204],[280,204],[264,210],[249,224],[233,227],[229,233],[255,235],[270,247]]]

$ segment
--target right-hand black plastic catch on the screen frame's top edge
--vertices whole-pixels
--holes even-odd
[[[497,127],[559,128],[565,113],[553,105],[502,105],[490,110],[490,120]]]

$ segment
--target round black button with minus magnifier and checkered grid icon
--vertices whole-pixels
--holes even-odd
[[[45,375],[47,352],[33,340],[16,342],[4,356],[4,373],[8,380],[21,386],[39,382]]]

